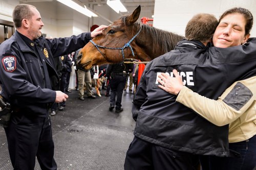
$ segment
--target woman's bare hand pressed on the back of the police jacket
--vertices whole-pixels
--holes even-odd
[[[182,89],[183,83],[176,69],[173,70],[173,74],[175,77],[172,78],[169,75],[162,72],[161,75],[158,76],[160,80],[157,81],[161,84],[158,85],[158,87],[171,94],[177,95]]]

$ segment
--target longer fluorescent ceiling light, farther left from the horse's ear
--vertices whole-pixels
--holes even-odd
[[[68,7],[72,8],[88,17],[98,16],[95,13],[93,13],[92,11],[90,11],[89,9],[87,9],[86,6],[84,6],[84,8],[83,8],[82,6],[76,4],[74,1],[71,1],[71,0],[57,0],[57,1],[64,5],[67,5]]]

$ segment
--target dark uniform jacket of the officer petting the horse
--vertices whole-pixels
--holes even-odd
[[[90,32],[67,38],[39,37],[30,44],[38,56],[16,31],[0,45],[0,84],[4,99],[15,110],[46,116],[47,105],[55,102],[54,90],[59,83],[53,57],[70,54],[90,39]]]

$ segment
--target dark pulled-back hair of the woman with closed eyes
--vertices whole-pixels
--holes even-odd
[[[227,15],[229,14],[233,14],[233,13],[239,13],[242,14],[246,20],[246,24],[245,24],[245,35],[250,34],[252,25],[253,25],[253,16],[251,14],[251,12],[245,8],[240,8],[240,7],[235,7],[235,8],[231,8],[227,11],[225,11],[220,19],[219,19],[219,23],[220,21]]]

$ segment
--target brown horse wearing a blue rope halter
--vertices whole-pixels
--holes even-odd
[[[136,22],[140,6],[132,15],[123,16],[87,43],[78,55],[85,69],[93,65],[119,63],[126,58],[151,61],[173,50],[184,37]]]

